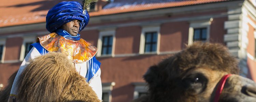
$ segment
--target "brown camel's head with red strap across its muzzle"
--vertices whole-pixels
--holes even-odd
[[[151,66],[143,76],[148,95],[134,102],[255,102],[256,83],[238,74],[228,48],[196,42]]]

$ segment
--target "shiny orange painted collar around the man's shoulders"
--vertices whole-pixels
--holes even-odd
[[[77,41],[66,39],[56,33],[41,36],[37,38],[41,46],[49,52],[61,52],[68,56],[74,63],[83,63],[90,60],[97,53],[98,49],[80,39]]]

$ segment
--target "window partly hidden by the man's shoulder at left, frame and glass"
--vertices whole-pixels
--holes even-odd
[[[23,44],[22,44],[22,48],[20,51],[20,61],[23,61],[24,58],[27,56],[28,52],[29,52],[29,46],[30,44],[33,44],[36,40],[35,36],[29,36],[29,37],[23,37]]]

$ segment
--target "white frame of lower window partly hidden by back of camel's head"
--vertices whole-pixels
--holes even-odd
[[[146,93],[148,90],[148,86],[144,82],[136,82],[132,83],[134,85],[133,99],[139,98],[139,93]]]

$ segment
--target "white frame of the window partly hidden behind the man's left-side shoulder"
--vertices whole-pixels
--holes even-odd
[[[26,43],[29,43],[29,42],[33,42],[35,43],[36,41],[36,37],[35,36],[26,36],[26,37],[23,37],[23,43],[22,43],[22,48],[21,48],[21,51],[20,51],[20,57],[19,57],[19,60],[20,61],[23,61],[24,60],[24,57],[25,57],[25,44]]]

